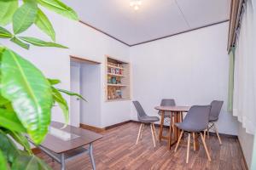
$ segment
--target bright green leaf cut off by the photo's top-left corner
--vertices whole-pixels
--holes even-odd
[[[0,1],[0,26],[6,26],[11,22],[13,14],[18,6],[18,0]]]

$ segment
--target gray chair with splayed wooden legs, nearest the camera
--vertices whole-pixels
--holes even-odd
[[[177,145],[174,150],[175,152],[177,151],[177,146],[180,143],[183,133],[184,132],[189,133],[186,163],[189,162],[189,148],[190,148],[189,146],[190,146],[191,133],[193,134],[193,138],[194,138],[194,150],[195,150],[195,133],[200,133],[202,143],[207,152],[208,160],[211,161],[211,156],[209,155],[209,152],[207,150],[207,144],[205,142],[205,138],[201,133],[207,129],[210,111],[211,111],[211,105],[194,105],[189,109],[189,112],[187,116],[185,116],[183,122],[179,122],[175,124],[177,128],[182,130],[177,140]]]

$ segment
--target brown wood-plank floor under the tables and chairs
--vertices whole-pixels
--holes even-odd
[[[212,161],[207,161],[207,155],[202,144],[199,151],[191,150],[189,164],[185,163],[186,146],[181,145],[177,153],[167,150],[166,142],[158,143],[156,148],[150,133],[150,127],[144,127],[143,139],[137,145],[137,132],[139,124],[130,122],[125,125],[114,127],[104,132],[104,137],[94,144],[94,156],[98,170],[113,169],[214,169],[214,170],[242,170],[246,169],[242,159],[238,140],[235,138],[222,137],[223,144],[218,144],[216,137],[207,139],[207,146],[212,156]],[[158,132],[158,128],[156,129]],[[201,141],[200,141],[201,142]],[[60,169],[59,163],[51,161],[49,156],[38,154],[53,169]],[[84,154],[72,161],[67,161],[67,169],[82,170],[91,169],[89,156]]]

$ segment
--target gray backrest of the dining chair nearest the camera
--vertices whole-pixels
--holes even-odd
[[[192,106],[183,123],[188,124],[191,129],[204,130],[208,126],[211,105],[194,105]]]

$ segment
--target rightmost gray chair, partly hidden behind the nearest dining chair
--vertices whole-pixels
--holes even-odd
[[[212,101],[212,103],[211,103],[212,108],[210,111],[209,123],[208,123],[208,127],[207,127],[208,138],[209,138],[209,129],[213,128],[213,130],[217,134],[219,144],[222,144],[222,142],[221,142],[221,139],[218,134],[218,128],[216,127],[214,122],[218,121],[218,116],[220,114],[223,103],[224,103],[224,101],[218,101],[218,100]],[[204,138],[206,136],[205,134],[206,133],[204,133]]]

